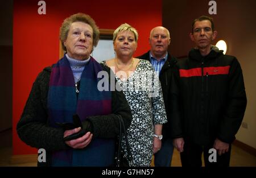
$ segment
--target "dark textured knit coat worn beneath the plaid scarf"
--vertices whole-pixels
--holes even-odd
[[[101,66],[110,76],[110,68],[105,65]],[[71,148],[63,140],[64,130],[50,127],[48,123],[47,96],[50,76],[51,67],[44,68],[39,73],[32,86],[22,116],[16,126],[19,138],[23,142],[31,147],[44,148],[46,150],[46,163],[38,162],[38,166],[51,166],[51,154],[53,151]],[[118,115],[123,118],[125,128],[128,128],[132,119],[130,106],[123,92],[114,90],[112,91],[112,114],[94,115],[86,119],[92,125],[93,138],[109,139],[119,135]],[[88,121],[82,122],[83,127]]]

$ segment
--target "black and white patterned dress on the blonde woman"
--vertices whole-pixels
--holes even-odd
[[[103,61],[106,65],[106,62]],[[167,122],[162,89],[158,76],[147,60],[139,60],[137,68],[127,80],[119,82],[131,107],[133,121],[127,129],[133,166],[150,166],[153,155],[154,125]],[[122,146],[125,146],[123,140]],[[127,152],[126,147],[123,147]]]

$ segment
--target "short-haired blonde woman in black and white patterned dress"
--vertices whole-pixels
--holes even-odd
[[[137,42],[135,28],[122,24],[113,34],[116,57],[102,63],[112,68],[131,107],[133,121],[127,135],[133,165],[149,166],[153,153],[160,150],[162,124],[167,118],[158,76],[148,61],[133,57]]]

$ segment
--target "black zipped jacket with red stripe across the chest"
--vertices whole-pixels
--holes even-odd
[[[172,78],[172,137],[200,145],[218,138],[232,143],[246,108],[242,69],[234,56],[198,49],[175,65]]]

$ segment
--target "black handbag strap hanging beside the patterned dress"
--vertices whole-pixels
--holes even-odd
[[[126,148],[127,148],[127,160],[131,162],[133,160],[133,156],[131,155],[131,149],[130,145],[128,142],[127,138],[127,133],[125,129],[125,123],[123,123],[123,118],[121,115],[118,115],[119,119],[119,145],[118,145],[118,155],[117,155],[117,161],[118,161],[118,166],[120,163],[120,157],[121,157],[121,144],[122,144],[122,137],[125,137],[125,143],[126,143]]]

